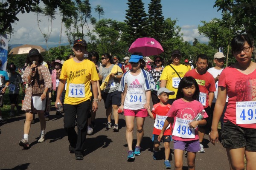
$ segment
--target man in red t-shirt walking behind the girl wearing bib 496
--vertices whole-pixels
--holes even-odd
[[[212,100],[214,98],[214,91],[216,91],[215,88],[215,81],[209,72],[207,72],[206,68],[208,66],[208,57],[205,54],[199,54],[196,58],[196,68],[193,70],[188,71],[184,77],[193,77],[198,83],[199,91],[200,91],[200,97],[199,101],[204,106],[204,110],[206,111],[208,115],[207,119],[207,125],[205,126],[199,126],[198,128],[198,136],[199,136],[199,142],[201,149],[198,152],[204,153],[204,146],[202,144],[204,139],[204,134],[207,131],[210,130],[212,126]]]

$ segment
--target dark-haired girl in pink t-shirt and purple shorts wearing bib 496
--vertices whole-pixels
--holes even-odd
[[[182,170],[183,152],[187,150],[187,163],[189,170],[195,170],[195,156],[201,149],[198,137],[198,125],[206,125],[206,120],[193,121],[204,106],[199,102],[199,87],[193,77],[183,77],[177,90],[176,100],[166,114],[163,129],[158,141],[163,136],[166,127],[172,122],[172,139],[174,140],[175,170]],[[204,114],[204,118],[207,118]]]

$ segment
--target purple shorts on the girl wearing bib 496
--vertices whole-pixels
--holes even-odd
[[[185,150],[185,147],[188,152],[198,152],[198,150],[201,149],[199,140],[193,140],[193,141],[173,140],[173,149]]]

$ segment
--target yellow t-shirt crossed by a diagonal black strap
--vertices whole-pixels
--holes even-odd
[[[180,64],[180,65],[172,65],[173,68],[177,71],[177,73],[180,75],[181,78],[184,77],[187,71],[189,69],[186,67],[186,65]],[[163,73],[161,74],[160,80],[167,80],[166,82],[166,88],[168,88],[170,91],[174,91],[175,95],[169,95],[169,99],[175,99],[178,85],[180,82],[179,76],[176,74],[176,72],[172,69],[170,65],[167,65],[163,69]],[[175,84],[173,84],[173,82]]]

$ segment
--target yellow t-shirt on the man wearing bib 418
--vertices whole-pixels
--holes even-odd
[[[73,59],[68,59],[64,62],[61,69],[60,79],[66,79],[67,89],[65,95],[65,104],[78,105],[92,96],[90,90],[90,81],[99,80],[95,64],[89,59],[84,59],[82,62],[75,62]],[[72,84],[84,84],[84,97],[70,97],[69,87]]]

